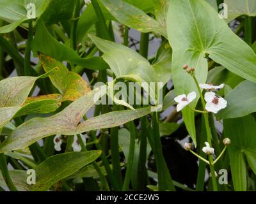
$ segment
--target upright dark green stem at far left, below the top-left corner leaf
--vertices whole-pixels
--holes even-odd
[[[24,75],[31,76],[31,43],[33,40],[33,21],[29,20],[28,40],[26,43],[25,60],[24,60]]]

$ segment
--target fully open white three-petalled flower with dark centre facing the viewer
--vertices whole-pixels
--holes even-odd
[[[220,96],[217,96],[214,92],[206,92],[204,99],[207,102],[205,109],[208,112],[218,113],[219,110],[226,108],[227,101]]]

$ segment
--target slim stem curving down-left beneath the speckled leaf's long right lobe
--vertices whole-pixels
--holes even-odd
[[[131,182],[132,177],[132,166],[133,166],[133,159],[134,159],[134,151],[135,151],[135,139],[136,139],[136,127],[134,126],[134,122],[129,122],[130,126],[130,145],[129,145],[129,155],[127,160],[127,168],[125,173],[124,185],[122,187],[122,191],[129,190],[129,184]]]

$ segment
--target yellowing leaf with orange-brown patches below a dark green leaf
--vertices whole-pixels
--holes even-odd
[[[61,101],[76,101],[76,99],[90,91],[90,87],[84,79],[77,73],[69,71],[61,62],[45,55],[40,55],[40,62],[46,72],[52,68],[58,68],[52,72],[49,78],[62,94]]]

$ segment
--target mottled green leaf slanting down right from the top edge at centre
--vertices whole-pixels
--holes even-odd
[[[108,9],[109,13],[122,24],[143,33],[154,31],[166,36],[164,27],[139,8],[121,0],[101,0],[101,2]]]

